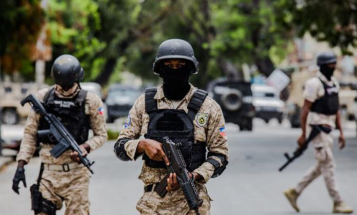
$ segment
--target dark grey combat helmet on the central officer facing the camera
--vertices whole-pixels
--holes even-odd
[[[199,62],[194,57],[192,46],[180,39],[171,39],[164,41],[157,50],[155,62],[152,70],[155,74],[160,74],[160,61],[165,59],[185,59],[191,63],[191,74],[196,74],[199,71]]]

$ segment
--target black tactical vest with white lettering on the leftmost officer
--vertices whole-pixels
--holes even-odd
[[[86,90],[80,90],[72,98],[61,98],[56,96],[54,88],[50,89],[44,97],[44,107],[49,112],[61,119],[63,125],[73,135],[78,144],[88,140],[90,128],[89,115],[85,113]],[[39,120],[38,130],[49,129],[49,125],[44,118]],[[50,140],[48,136],[39,138],[37,142],[57,144]]]

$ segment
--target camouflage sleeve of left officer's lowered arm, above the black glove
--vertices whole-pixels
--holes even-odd
[[[35,94],[35,96],[38,100],[42,101],[48,90],[49,88],[40,90]],[[27,116],[24,136],[21,140],[20,150],[18,151],[16,161],[24,160],[26,161],[26,163],[29,163],[33,153],[36,150],[37,128],[40,117],[41,116],[37,114],[34,110],[31,110],[29,115]]]

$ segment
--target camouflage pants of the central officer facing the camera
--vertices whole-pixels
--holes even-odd
[[[210,214],[210,197],[204,185],[197,185],[199,196],[203,200],[200,207],[201,215]],[[136,204],[136,209],[143,215],[166,215],[166,214],[195,214],[193,210],[190,211],[184,194],[181,189],[168,192],[164,198],[158,196],[154,191],[145,192],[144,195]]]

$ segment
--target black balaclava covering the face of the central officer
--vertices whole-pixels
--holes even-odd
[[[190,66],[173,69],[161,63],[161,77],[164,81],[164,95],[169,100],[182,100],[190,90],[188,77],[190,76]]]

